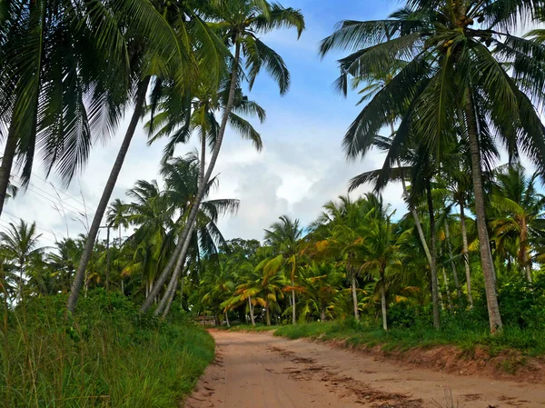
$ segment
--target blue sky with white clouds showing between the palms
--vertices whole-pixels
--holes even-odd
[[[307,29],[297,41],[294,31],[282,30],[263,37],[263,41],[284,58],[292,74],[292,87],[283,97],[276,85],[260,75],[249,95],[267,112],[264,124],[255,127],[262,134],[263,152],[236,134],[228,132],[216,166],[220,186],[214,197],[241,200],[239,214],[221,221],[227,238],[263,238],[268,227],[282,214],[300,218],[308,224],[320,214],[322,204],[339,194],[346,194],[348,180],[355,174],[381,165],[382,157],[370,154],[363,163],[347,163],[342,153],[342,136],[361,107],[354,106],[355,95],[344,99],[336,95],[332,83],[338,74],[335,58],[321,60],[318,44],[332,33],[342,19],[370,20],[383,18],[397,7],[394,0],[284,0],[284,6],[302,10]],[[7,204],[6,221],[16,217],[36,221],[44,234],[44,243],[53,244],[55,237],[84,231],[87,222],[76,212],[93,215],[105,180],[114,163],[115,154],[128,120],[105,145],[94,148],[89,164],[65,193],[59,193],[65,216],[54,209],[56,193],[51,184],[35,177],[26,194]],[[113,198],[125,199],[125,191],[138,179],[157,177],[163,144],[145,144],[142,126],[125,160],[124,170]],[[193,150],[196,139],[178,149],[178,154]],[[36,174],[40,175],[36,168]],[[43,174],[42,174],[43,175]],[[53,176],[51,183],[60,185]],[[362,187],[356,194],[369,188]],[[403,211],[401,189],[392,184],[384,192],[393,208]],[[62,203],[61,203],[62,202]],[[91,220],[89,220],[90,224]]]

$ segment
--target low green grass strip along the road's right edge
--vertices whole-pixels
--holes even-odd
[[[545,332],[506,327],[504,332],[491,336],[486,328],[463,329],[453,325],[436,331],[430,327],[391,329],[384,332],[366,323],[355,321],[307,323],[280,327],[275,335],[297,339],[315,337],[320,340],[345,340],[352,345],[373,347],[381,344],[384,351],[430,348],[451,344],[471,352],[481,346],[491,355],[515,349],[530,356],[545,355]]]

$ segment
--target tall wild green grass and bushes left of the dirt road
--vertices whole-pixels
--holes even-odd
[[[122,296],[90,296],[74,321],[64,296],[7,313],[0,407],[173,408],[213,360],[213,338],[173,316],[139,318]]]

